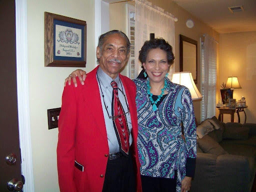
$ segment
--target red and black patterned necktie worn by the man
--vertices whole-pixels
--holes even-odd
[[[112,116],[116,117],[113,119],[114,130],[119,143],[120,152],[127,156],[129,151],[128,124],[121,102],[118,98],[117,83],[113,80],[110,84],[113,87]]]

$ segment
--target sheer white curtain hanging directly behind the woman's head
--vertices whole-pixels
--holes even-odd
[[[137,77],[141,71],[141,63],[138,60],[139,50],[146,40],[149,40],[149,33],[154,33],[154,37],[162,37],[173,48],[174,46],[174,16],[158,6],[152,6],[151,2],[146,0],[135,0],[135,72]],[[177,20],[177,19],[176,19]],[[170,68],[169,78],[174,72],[174,64]]]

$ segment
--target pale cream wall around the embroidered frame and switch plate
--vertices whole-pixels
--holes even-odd
[[[58,129],[48,130],[47,109],[61,106],[64,78],[75,68],[44,67],[44,11],[87,22],[87,66],[95,66],[94,0],[27,0],[28,83],[34,191],[56,192]],[[89,54],[88,54],[89,53]]]

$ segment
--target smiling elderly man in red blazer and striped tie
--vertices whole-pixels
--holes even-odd
[[[84,86],[65,86],[59,115],[60,191],[141,191],[135,84],[119,74],[129,39],[118,30],[99,37],[99,66]],[[78,81],[78,80],[77,80]]]

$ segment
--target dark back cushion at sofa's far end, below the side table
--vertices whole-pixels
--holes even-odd
[[[227,122],[222,138],[248,139],[249,127],[242,126],[241,123]]]

